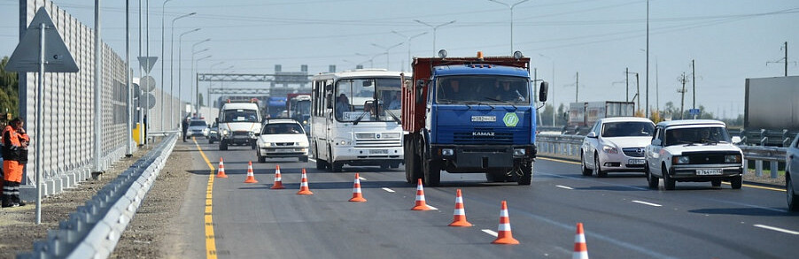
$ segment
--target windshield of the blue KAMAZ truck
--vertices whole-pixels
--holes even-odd
[[[436,83],[437,103],[529,104],[530,84],[523,77],[459,75]]]

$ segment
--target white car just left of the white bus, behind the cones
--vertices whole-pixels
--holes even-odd
[[[258,162],[281,157],[298,157],[300,162],[308,162],[308,137],[296,120],[267,119],[256,135]]]

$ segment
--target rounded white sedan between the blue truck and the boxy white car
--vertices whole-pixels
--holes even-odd
[[[648,118],[601,118],[580,146],[583,175],[609,171],[644,172],[645,148],[652,141],[655,124]]]

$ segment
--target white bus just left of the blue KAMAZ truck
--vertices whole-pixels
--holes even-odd
[[[311,146],[317,169],[403,163],[400,72],[361,69],[315,75]]]

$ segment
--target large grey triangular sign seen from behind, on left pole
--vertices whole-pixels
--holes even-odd
[[[41,44],[42,27],[44,27],[44,44]],[[64,39],[58,34],[50,15],[44,8],[36,11],[34,19],[27,27],[26,33],[19,41],[17,49],[8,60],[5,69],[14,72],[38,72],[41,63],[39,52],[44,48],[45,72],[78,72],[75,59],[66,48]]]

